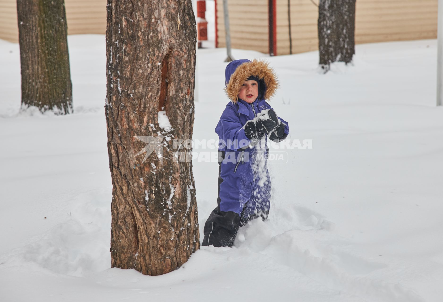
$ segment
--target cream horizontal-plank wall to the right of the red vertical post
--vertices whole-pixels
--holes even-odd
[[[318,3],[318,0],[314,0]],[[358,0],[355,42],[436,38],[437,0]],[[318,7],[291,0],[292,52],[318,49]],[[277,0],[277,52],[289,53],[288,1]]]

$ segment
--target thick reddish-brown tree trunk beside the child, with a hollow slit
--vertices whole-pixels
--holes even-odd
[[[191,1],[108,0],[112,267],[161,275],[200,247],[192,163],[174,150],[192,138],[195,46]]]

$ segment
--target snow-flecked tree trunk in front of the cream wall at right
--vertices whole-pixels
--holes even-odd
[[[320,0],[318,27],[320,66],[324,72],[332,62],[352,62],[355,0]]]

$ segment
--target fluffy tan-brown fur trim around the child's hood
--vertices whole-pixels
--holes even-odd
[[[237,95],[240,93],[241,84],[250,76],[256,76],[264,81],[266,91],[264,99],[269,100],[276,93],[279,87],[277,75],[269,67],[269,63],[263,60],[254,59],[252,62],[246,62],[237,67],[226,85],[225,92],[231,101],[237,103]]]

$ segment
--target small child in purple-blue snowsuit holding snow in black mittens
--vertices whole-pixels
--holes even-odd
[[[217,208],[204,227],[202,245],[231,247],[238,228],[269,213],[271,183],[266,139],[280,142],[288,123],[265,101],[278,88],[276,74],[264,61],[235,60],[226,66],[231,100],[215,128],[220,141]]]

